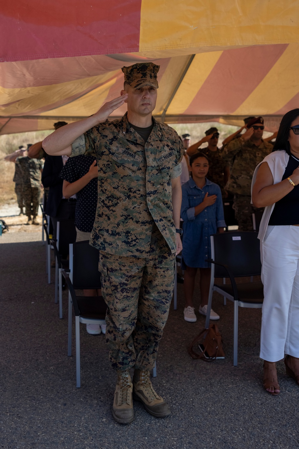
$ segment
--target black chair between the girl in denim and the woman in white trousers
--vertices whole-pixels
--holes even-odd
[[[211,282],[206,328],[209,326],[213,291],[234,301],[234,366],[238,364],[238,307],[261,308],[264,287],[258,282],[235,282],[235,277],[261,273],[260,240],[257,232],[232,231],[211,235]],[[215,278],[230,278],[230,284],[215,284]]]

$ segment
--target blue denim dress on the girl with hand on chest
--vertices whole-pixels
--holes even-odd
[[[221,189],[207,178],[205,180],[202,189],[197,187],[192,178],[182,185],[182,269],[186,269],[186,265],[210,268],[211,264],[205,262],[211,257],[210,235],[216,234],[217,228],[225,227]],[[195,216],[195,206],[203,202],[207,192],[208,196],[217,195],[217,200]]]

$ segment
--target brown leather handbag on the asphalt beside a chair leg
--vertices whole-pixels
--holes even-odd
[[[199,352],[195,352],[193,349],[195,344]],[[223,342],[217,324],[210,324],[208,329],[204,329],[200,332],[200,334],[192,341],[188,348],[188,352],[193,359],[202,359],[206,362],[224,359]]]

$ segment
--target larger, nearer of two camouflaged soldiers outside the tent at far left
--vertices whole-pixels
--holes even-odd
[[[40,175],[43,171],[43,162],[38,159],[31,159],[28,156],[22,156],[17,158],[16,165],[18,165],[22,171],[23,178],[23,198],[26,208],[26,216],[28,221],[26,225],[31,223],[39,225],[36,220],[39,208],[40,199]]]

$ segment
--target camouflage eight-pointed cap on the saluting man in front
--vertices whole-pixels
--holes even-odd
[[[129,67],[121,67],[125,75],[125,83],[132,88],[152,86],[158,88],[157,73],[160,66],[153,62],[139,62]]]

